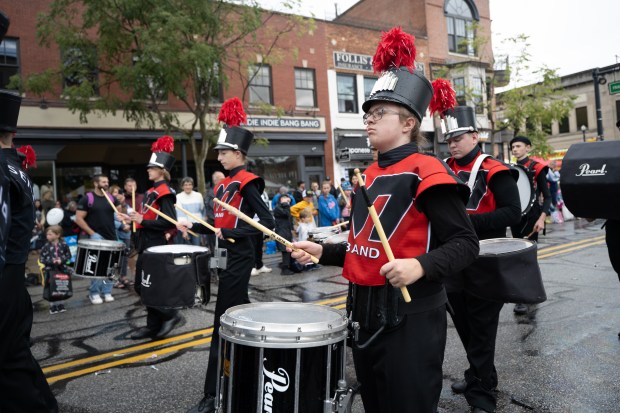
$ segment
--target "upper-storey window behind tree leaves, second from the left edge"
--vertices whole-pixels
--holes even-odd
[[[62,53],[64,87],[77,87],[90,83],[94,94],[99,94],[97,82],[97,52],[94,48],[72,47]]]

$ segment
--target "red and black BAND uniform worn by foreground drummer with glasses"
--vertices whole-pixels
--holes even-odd
[[[361,327],[353,358],[364,409],[435,412],[446,343],[442,279],[478,254],[464,208],[467,187],[413,143],[379,154],[378,163],[365,171],[365,182],[394,256],[418,259],[425,275],[407,286],[410,303],[386,284],[379,269],[388,258],[356,193],[348,245],[323,245],[321,264],[342,265],[350,281],[347,313]]]

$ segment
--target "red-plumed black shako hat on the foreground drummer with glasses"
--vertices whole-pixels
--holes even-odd
[[[422,121],[433,96],[431,83],[415,67],[415,37],[400,27],[383,32],[372,59],[375,73],[382,73],[362,105],[368,112],[375,101],[394,102],[405,106]]]

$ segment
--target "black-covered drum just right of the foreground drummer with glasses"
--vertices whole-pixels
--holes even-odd
[[[547,299],[536,243],[528,239],[481,240],[478,259],[464,274],[465,290],[486,300],[538,304]]]

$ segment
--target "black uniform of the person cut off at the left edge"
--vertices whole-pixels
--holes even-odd
[[[7,241],[6,262],[0,269],[0,411],[53,413],[58,404],[30,352],[33,314],[24,273],[35,216],[32,181],[15,149],[2,149],[0,157],[6,160],[9,179],[8,188],[0,187],[0,203],[8,207],[0,211],[7,212],[1,220],[9,224],[3,228],[8,230],[2,236]]]

